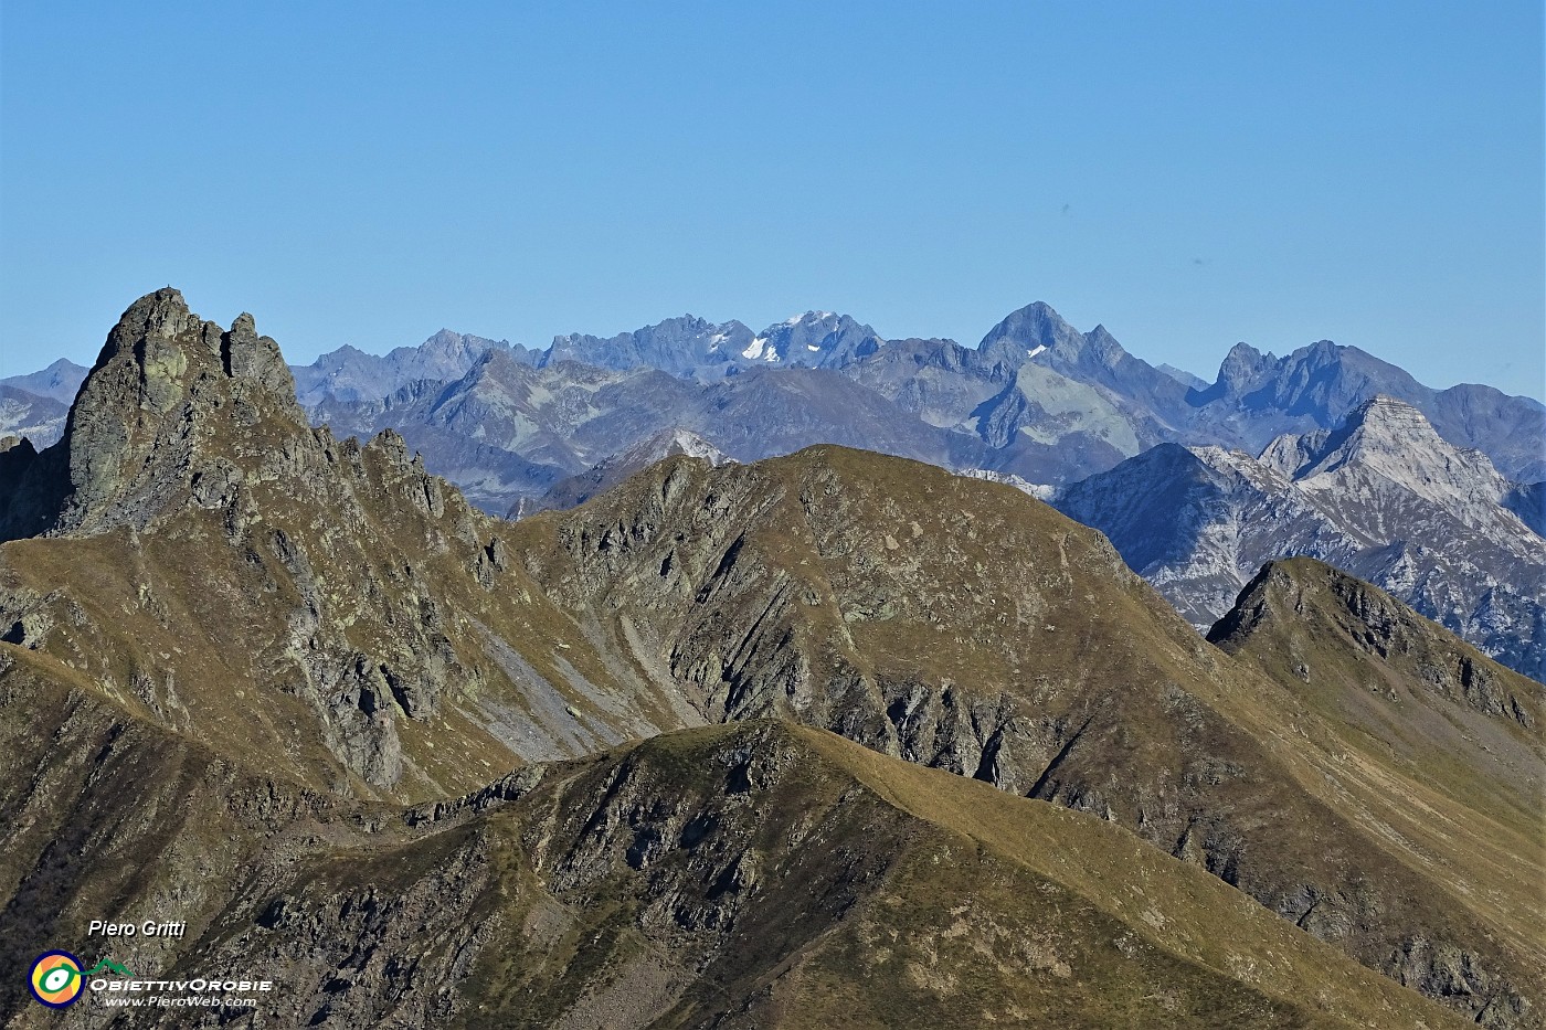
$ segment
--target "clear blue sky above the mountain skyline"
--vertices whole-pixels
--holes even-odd
[[[1212,377],[1543,394],[1540,0],[70,3],[0,14],[0,371],[172,283],[291,360],[1047,300]]]

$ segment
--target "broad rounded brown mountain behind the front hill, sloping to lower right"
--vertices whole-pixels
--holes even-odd
[[[707,719],[793,718],[1102,815],[1472,1016],[1534,1018],[1529,882],[1481,917],[1450,878],[1464,840],[1435,858],[1390,829],[1382,770],[1017,490],[819,447],[671,459],[512,532],[560,606]],[[1436,804],[1472,818],[1464,792]]]

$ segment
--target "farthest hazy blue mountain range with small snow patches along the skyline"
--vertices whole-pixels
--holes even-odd
[[[1258,453],[1285,433],[1333,428],[1362,401],[1385,394],[1416,407],[1452,444],[1484,452],[1509,478],[1546,479],[1540,452],[1546,407],[1534,399],[1478,385],[1432,390],[1394,365],[1325,340],[1286,357],[1237,345],[1215,382],[1198,387],[1184,373],[1133,357],[1102,326],[1079,333],[1045,303],[1010,314],[976,348],[937,339],[884,340],[870,326],[832,312],[805,312],[761,333],[741,322],[685,315],[609,339],[561,336],[546,351],[442,331],[417,353],[399,348],[371,359],[374,396],[357,385],[362,376],[348,387],[331,385],[340,367],[362,360],[357,351],[335,351],[298,368],[297,382],[309,407],[328,399],[380,404],[405,388],[422,397],[424,380],[450,387],[496,351],[543,373],[533,385],[563,382],[574,374],[563,371],[570,362],[617,373],[663,371],[705,388],[753,370],[835,371],[901,414],[963,438],[948,450],[1042,483],[1105,470],[1160,442]],[[810,382],[801,393],[813,399],[833,391],[824,385],[830,379]],[[470,388],[456,387],[459,393]],[[855,413],[855,431],[875,431],[863,418]],[[908,419],[892,414],[889,421]],[[724,430],[694,428],[725,445]],[[492,435],[484,439],[501,445]]]

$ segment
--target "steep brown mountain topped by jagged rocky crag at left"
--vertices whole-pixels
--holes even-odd
[[[397,433],[362,445],[311,428],[277,345],[249,315],[221,329],[176,291],[142,298],[110,334],[63,438],[40,453],[5,452],[0,470],[6,537],[42,535],[39,546],[57,540],[62,551],[111,540],[99,568],[71,568],[59,582],[26,564],[8,569],[6,640],[68,654],[201,736],[229,725],[229,742],[277,749],[314,783],[357,778],[383,792],[447,776],[472,783],[473,770],[447,767],[433,742],[405,756],[400,732],[450,716],[450,693],[476,707],[490,682],[495,697],[515,693],[512,677],[526,688],[546,682],[470,628],[526,636],[510,628],[519,600],[492,589],[510,568],[492,520],[427,475]],[[113,574],[147,625],[119,625],[121,612],[91,603],[91,577]],[[275,704],[301,701],[315,728],[218,718],[227,677],[272,691]],[[572,688],[558,682],[546,688],[557,708],[547,718],[570,724]],[[512,752],[550,753],[529,728],[518,738],[509,718],[478,708],[476,722],[462,724],[489,769]],[[569,739],[617,741],[623,725],[649,724],[598,718]]]

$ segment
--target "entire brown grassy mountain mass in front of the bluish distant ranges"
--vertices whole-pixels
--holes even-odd
[[[1506,762],[1350,761],[1014,489],[683,455],[509,524],[286,377],[162,291],[0,462],[8,967],[176,911],[114,957],[274,970],[247,1025],[1540,1025],[1541,697],[1481,656],[1424,697]]]

